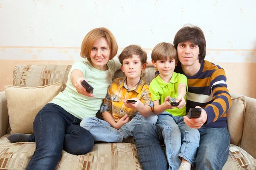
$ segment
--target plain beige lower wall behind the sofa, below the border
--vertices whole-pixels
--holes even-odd
[[[0,91],[3,85],[12,85],[15,65],[59,64],[72,65],[73,61],[54,60],[0,60]],[[232,93],[256,98],[256,63],[215,62],[226,71],[228,89]]]

